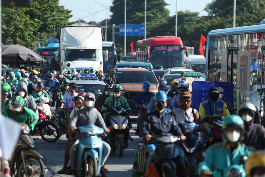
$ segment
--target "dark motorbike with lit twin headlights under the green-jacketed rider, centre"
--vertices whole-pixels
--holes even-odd
[[[119,157],[123,155],[123,149],[126,149],[129,138],[129,117],[127,109],[122,108],[121,106],[110,109],[109,120],[111,126],[109,127],[109,144],[111,146],[111,153],[117,153]]]

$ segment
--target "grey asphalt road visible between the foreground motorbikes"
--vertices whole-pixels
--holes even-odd
[[[134,135],[136,124],[132,124],[132,126],[130,135],[134,138],[134,142],[129,141],[129,147],[124,149],[123,157],[118,157],[117,153],[110,154],[106,162],[106,168],[110,171],[107,174],[108,177],[117,177],[117,174],[119,176],[132,176],[133,157],[138,144],[142,141],[141,138]],[[43,156],[43,163],[45,168],[47,168],[45,177],[69,176],[57,173],[64,164],[64,151],[67,142],[65,135],[54,143],[45,142],[40,136],[34,136],[33,138],[39,138],[34,141],[35,150]]]

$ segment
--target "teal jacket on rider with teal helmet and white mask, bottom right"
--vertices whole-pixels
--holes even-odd
[[[198,165],[199,175],[203,170],[212,169],[213,176],[222,177],[226,176],[231,165],[240,165],[243,168],[243,164],[239,164],[241,156],[250,156],[252,152],[244,144],[239,144],[238,148],[231,153],[231,149],[227,148],[224,143],[226,142],[214,144],[206,149],[205,159]]]

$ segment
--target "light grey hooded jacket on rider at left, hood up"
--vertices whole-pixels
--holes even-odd
[[[14,93],[12,95],[12,97],[10,98],[10,101],[12,100],[12,98],[14,96],[19,96],[18,91],[20,91],[20,90],[26,90],[26,92],[27,92],[27,84],[25,84],[24,82],[18,83],[16,93]],[[37,109],[37,104],[35,103],[35,100],[33,97],[28,96],[28,92],[27,92],[26,96],[24,96],[24,100],[25,100],[24,107],[33,110],[35,112],[35,114],[38,116],[39,112]],[[7,104],[9,104],[9,101],[7,101]]]

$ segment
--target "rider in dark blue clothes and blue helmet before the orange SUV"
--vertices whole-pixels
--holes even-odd
[[[134,106],[136,108],[138,108],[138,106],[142,103],[149,103],[151,101],[151,99],[154,97],[154,93],[153,92],[149,92],[149,89],[150,89],[150,83],[148,81],[144,81],[143,82],[143,92],[140,92],[136,95],[136,101],[134,101]],[[143,109],[140,109],[138,110],[138,118],[137,118],[137,129],[135,131],[135,135],[138,135],[139,134],[139,128],[140,128],[140,112],[142,111]]]

